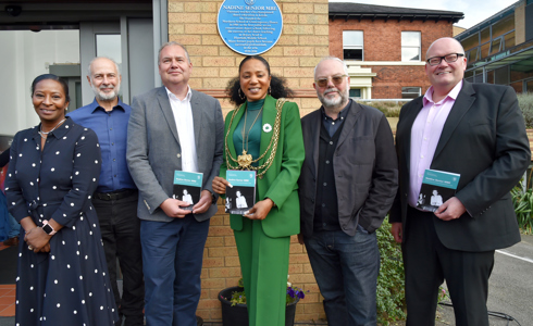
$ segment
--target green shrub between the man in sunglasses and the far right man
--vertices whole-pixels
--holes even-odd
[[[389,325],[391,322],[406,318],[401,247],[394,241],[387,220],[388,217],[376,230],[381,255],[377,277],[377,322],[382,325]]]

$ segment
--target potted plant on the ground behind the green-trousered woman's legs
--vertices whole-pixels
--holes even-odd
[[[285,326],[293,326],[296,315],[296,304],[306,294],[303,290],[287,281],[287,310],[285,311]],[[248,326],[248,309],[246,308],[246,294],[243,287],[243,278],[238,286],[223,289],[219,292],[222,303],[223,326]]]

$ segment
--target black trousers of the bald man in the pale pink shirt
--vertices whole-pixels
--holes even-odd
[[[433,213],[409,208],[407,218],[407,238],[402,243],[407,325],[435,325],[438,287],[446,279],[456,325],[488,326],[486,300],[494,250],[448,249],[435,231],[434,220],[437,217]]]

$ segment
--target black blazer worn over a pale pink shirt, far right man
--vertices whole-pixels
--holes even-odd
[[[396,131],[399,190],[391,222],[402,222],[409,190],[411,127],[423,97],[404,105]],[[463,86],[438,140],[431,168],[461,175],[456,197],[467,213],[454,221],[433,218],[438,238],[449,249],[488,251],[520,241],[510,189],[531,161],[524,121],[515,90],[508,86]],[[409,235],[404,234],[404,241]]]

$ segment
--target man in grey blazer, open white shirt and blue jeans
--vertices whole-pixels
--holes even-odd
[[[223,155],[224,122],[218,100],[190,89],[186,49],[159,51],[163,87],[135,97],[127,129],[127,164],[139,189],[138,216],[147,325],[196,325],[209,218],[216,212],[211,184]],[[174,171],[203,174],[193,211],[173,199]]]

